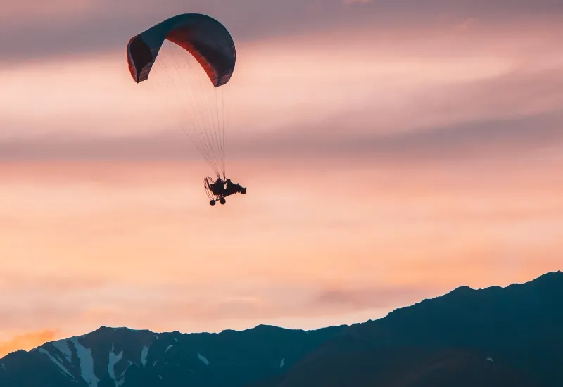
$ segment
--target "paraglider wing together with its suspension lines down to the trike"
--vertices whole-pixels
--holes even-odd
[[[148,82],[156,87],[151,97],[170,99],[165,104],[170,107],[170,117],[178,118],[179,126],[215,174],[223,177],[228,126],[224,110],[235,62],[229,31],[200,13],[168,18],[127,44],[133,80],[139,84],[155,75],[155,82]]]

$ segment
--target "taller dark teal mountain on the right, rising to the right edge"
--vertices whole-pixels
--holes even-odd
[[[350,326],[255,387],[563,386],[563,274],[445,296]]]

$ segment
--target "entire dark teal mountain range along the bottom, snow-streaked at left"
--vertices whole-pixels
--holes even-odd
[[[1,387],[562,387],[563,274],[383,319],[220,334],[102,327],[0,359]]]

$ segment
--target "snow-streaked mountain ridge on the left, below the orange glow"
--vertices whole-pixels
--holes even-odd
[[[243,386],[281,372],[344,328],[155,334],[102,327],[4,357],[0,386]]]

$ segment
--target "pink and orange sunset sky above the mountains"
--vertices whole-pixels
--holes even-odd
[[[562,269],[563,4],[4,1],[0,356],[99,326],[353,324]],[[227,174],[129,38],[232,33]]]

